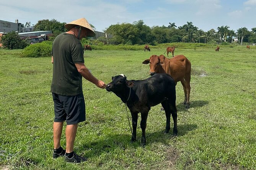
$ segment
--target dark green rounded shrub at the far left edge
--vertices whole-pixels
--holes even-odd
[[[4,48],[9,49],[23,49],[28,44],[20,39],[18,32],[12,31],[1,37],[0,43],[2,43]]]

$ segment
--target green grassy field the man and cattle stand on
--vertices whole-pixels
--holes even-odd
[[[125,74],[128,80],[143,79],[149,74],[149,66],[142,61],[163,54],[165,49],[85,51],[85,65],[105,83],[119,74]],[[186,110],[182,104],[184,94],[179,82],[178,136],[172,136],[172,129],[170,134],[163,134],[165,113],[157,105],[148,115],[145,148],[140,147],[139,123],[138,141],[130,143],[121,99],[84,79],[86,121],[79,124],[74,148],[89,158],[82,164],[52,159],[51,59],[21,58],[21,51],[0,49],[0,169],[256,168],[254,47],[220,47],[218,52],[213,48],[176,48],[174,55],[185,55],[191,61],[191,108]]]

